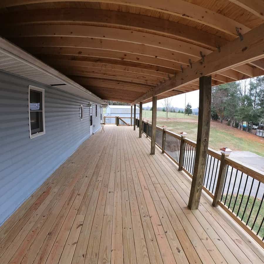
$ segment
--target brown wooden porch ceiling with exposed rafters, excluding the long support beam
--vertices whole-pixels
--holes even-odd
[[[0,13],[3,37],[97,96],[148,102],[143,95],[263,24],[264,1],[2,0]],[[258,56],[213,74],[212,85],[263,74]],[[158,99],[199,81],[175,87]]]

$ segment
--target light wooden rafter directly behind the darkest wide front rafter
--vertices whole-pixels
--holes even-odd
[[[9,25],[1,28],[1,34],[10,39],[17,37],[81,37],[119,40],[178,51],[197,58],[201,57],[200,51],[202,51],[204,55],[208,55],[211,50],[214,50],[166,36],[92,25],[21,25],[19,27],[16,25]],[[127,43],[125,43],[125,45],[127,45]]]

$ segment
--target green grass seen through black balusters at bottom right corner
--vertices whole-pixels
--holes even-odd
[[[236,200],[236,206],[234,208],[234,213],[237,214],[237,211],[238,211],[238,207],[240,205],[240,202],[241,202],[241,198],[242,198],[242,194],[238,194],[238,197],[237,197],[237,200]],[[225,201],[226,199],[226,205],[228,206],[229,205],[229,202],[230,202],[230,199],[231,199],[231,203],[230,203],[230,209],[233,210],[233,206],[234,206],[234,203],[235,203],[235,199],[236,199],[236,194],[233,194],[232,195],[232,198],[231,198],[231,194],[228,194],[227,195],[227,198],[226,198],[226,195],[223,195],[223,199],[222,199],[222,202]],[[240,210],[239,210],[239,213],[238,213],[238,216],[239,218],[241,219],[242,215],[243,215],[243,212],[244,212],[244,209],[246,207],[246,203],[247,203],[247,200],[248,200],[248,195],[244,195],[243,197],[243,201],[242,201],[242,204],[241,204],[241,207],[240,207]],[[245,212],[245,215],[243,217],[243,221],[244,222],[247,222],[248,221],[248,216],[250,214],[250,211],[251,211],[251,207],[253,205],[253,202],[254,202],[254,197],[253,196],[250,196],[249,197],[249,200],[248,200],[248,206],[247,206],[247,209],[246,209],[246,212]],[[256,201],[255,201],[255,204],[254,204],[254,207],[253,207],[253,210],[252,210],[252,213],[251,213],[251,216],[250,216],[250,219],[248,221],[248,226],[251,228],[254,221],[255,221],[255,217],[258,213],[258,208],[260,206],[260,203],[261,203],[261,199],[260,198],[257,198]],[[264,215],[264,207],[262,206],[260,208],[260,211],[259,211],[259,214],[258,214],[258,218],[255,222],[255,225],[253,227],[253,230],[255,232],[258,232],[258,229],[259,229],[259,226],[261,224],[261,221],[263,219],[263,215]],[[263,238],[264,236],[264,228],[261,228],[258,235]]]

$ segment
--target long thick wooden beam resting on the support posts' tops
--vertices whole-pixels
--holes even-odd
[[[192,68],[188,67],[183,72],[180,72],[175,77],[172,77],[172,79],[167,80],[154,89],[151,89],[133,103],[138,103],[152,96],[175,89],[176,87],[184,86],[185,84],[198,80],[201,76],[216,74],[223,70],[263,58],[263,32],[264,24],[243,35],[243,41],[236,38],[222,47],[221,52],[216,50],[210,53],[204,61],[201,59],[200,61],[194,63]]]

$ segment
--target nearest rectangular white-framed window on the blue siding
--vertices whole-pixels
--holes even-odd
[[[30,138],[45,134],[44,89],[28,87],[28,114]]]

